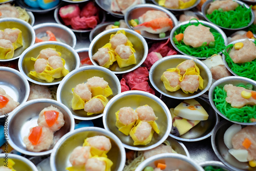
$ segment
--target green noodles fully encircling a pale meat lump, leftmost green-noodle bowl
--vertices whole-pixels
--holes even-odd
[[[203,43],[202,46],[198,47],[198,48],[193,48],[189,45],[185,45],[184,41],[178,41],[175,36],[177,34],[180,33],[184,33],[185,29],[188,26],[191,25],[195,25],[198,26],[199,24],[203,25],[202,23],[198,22],[198,23],[194,23],[191,24],[190,22],[186,25],[182,25],[178,30],[176,30],[174,32],[174,43],[175,45],[179,48],[179,50],[181,50],[182,52],[191,55],[191,56],[195,56],[195,57],[210,57],[214,54],[218,54],[219,52],[221,52],[222,50],[224,50],[225,44],[224,44],[224,39],[222,38],[222,35],[220,33],[214,32],[214,29],[210,29],[210,32],[212,33],[212,35],[214,35],[214,39],[215,39],[215,46],[210,48],[209,46],[207,46],[206,42]],[[203,25],[204,26],[204,25]],[[207,26],[206,26],[207,27]]]

